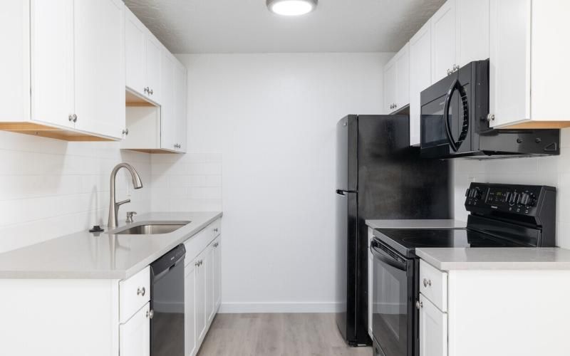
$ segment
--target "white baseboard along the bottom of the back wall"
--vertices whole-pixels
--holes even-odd
[[[341,303],[222,303],[219,313],[337,313]]]

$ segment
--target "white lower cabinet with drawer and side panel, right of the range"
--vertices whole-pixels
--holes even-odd
[[[570,271],[458,268],[420,260],[420,356],[569,355]]]

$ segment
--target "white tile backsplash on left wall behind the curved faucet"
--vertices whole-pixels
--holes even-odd
[[[143,188],[118,176],[120,209],[150,211],[150,156],[121,152],[118,142],[65,142],[0,132],[0,252],[106,225],[110,172],[132,163]],[[130,187],[130,188],[129,188]]]

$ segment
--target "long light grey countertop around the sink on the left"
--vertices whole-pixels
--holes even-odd
[[[81,231],[0,253],[0,278],[129,278],[221,216],[222,212],[141,214],[132,225],[150,221],[191,222],[160,235],[115,235],[101,226],[105,232],[99,236]]]

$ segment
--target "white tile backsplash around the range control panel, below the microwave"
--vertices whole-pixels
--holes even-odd
[[[561,131],[555,157],[455,160],[455,218],[467,219],[465,189],[470,182],[550,185],[557,188],[556,245],[570,248],[570,128]]]

